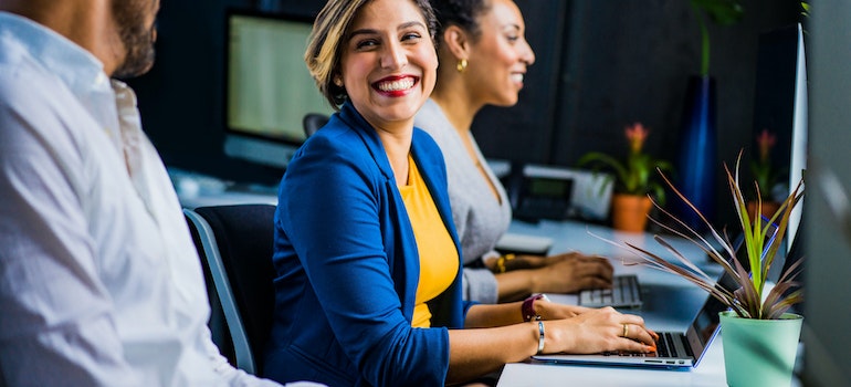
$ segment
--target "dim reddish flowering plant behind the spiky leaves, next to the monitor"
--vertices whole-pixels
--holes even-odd
[[[754,196],[747,201],[747,213],[753,218],[756,211],[757,201],[763,201],[761,216],[770,217],[780,207],[771,194],[774,187],[782,176],[781,170],[774,166],[771,160],[771,149],[777,144],[777,136],[768,129],[763,129],[756,136],[758,155],[750,161],[750,172],[754,175],[756,186]]]

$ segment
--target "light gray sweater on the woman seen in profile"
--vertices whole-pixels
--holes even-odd
[[[471,134],[476,155],[476,160],[473,160],[458,130],[432,100],[427,101],[417,114],[414,126],[434,137],[443,151],[452,218],[461,239],[464,264],[470,265],[484,258],[498,255],[494,247],[508,229],[512,210],[505,189],[487,166],[475,138]],[[493,196],[487,180],[479,171],[476,161],[482,165],[491,184],[496,187],[500,200]],[[498,301],[496,278],[490,270],[464,268],[463,281],[465,300],[490,304]]]

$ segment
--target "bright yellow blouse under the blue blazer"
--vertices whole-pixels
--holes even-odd
[[[413,227],[420,252],[420,282],[413,307],[413,327],[431,326],[431,311],[426,303],[445,291],[459,270],[459,257],[429,188],[413,159],[408,156],[408,185],[399,187]]]

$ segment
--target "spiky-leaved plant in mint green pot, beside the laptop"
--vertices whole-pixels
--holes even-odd
[[[674,254],[675,262],[669,262],[632,243],[624,243],[624,245],[610,242],[634,252],[640,258],[639,264],[647,264],[680,275],[710,292],[712,296],[729,307],[729,311],[721,314],[724,362],[728,385],[788,386],[791,380],[802,321],[800,315],[788,313],[788,310],[802,301],[802,291],[799,284],[795,282],[795,276],[799,273],[798,266],[802,261],[799,260],[790,265],[774,286],[767,286],[766,276],[786,234],[789,215],[803,197],[803,181],[798,182],[767,221],[763,217],[752,218],[747,213],[745,197],[739,188],[738,166],[740,158],[742,154],[736,160],[735,176],[726,165],[724,169],[733,196],[737,221],[745,236],[742,248],[745,249],[749,270],[746,270],[743,263],[736,259],[736,251],[729,237],[715,229],[704,215],[661,172],[660,175],[673,192],[704,221],[708,233],[701,233],[686,226],[659,205],[656,207],[661,212],[679,226],[674,228],[652,219],[668,231],[698,245],[735,280],[735,286],[729,284],[725,286],[712,280],[687,257],[666,242],[663,237],[655,236],[654,239]],[[759,197],[757,197],[756,202],[757,208],[761,208],[763,202]],[[769,234],[771,223],[777,226],[774,238]],[[701,257],[700,259],[704,258]]]

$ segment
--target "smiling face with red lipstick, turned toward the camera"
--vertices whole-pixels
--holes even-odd
[[[420,9],[412,1],[372,0],[344,44],[338,76],[355,108],[377,129],[412,126],[438,67]]]

